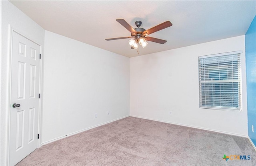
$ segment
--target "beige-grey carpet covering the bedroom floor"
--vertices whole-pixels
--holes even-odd
[[[223,155],[250,155],[224,160]],[[247,138],[127,117],[36,149],[17,166],[254,166]]]

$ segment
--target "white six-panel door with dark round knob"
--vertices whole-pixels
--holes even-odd
[[[38,148],[40,45],[13,31],[9,164]]]

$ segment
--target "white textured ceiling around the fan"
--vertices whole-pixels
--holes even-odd
[[[164,21],[171,27],[150,34],[167,40],[165,44],[148,41],[139,46],[140,55],[244,35],[256,15],[256,1],[10,1],[44,29],[124,55],[138,56],[130,49],[129,39],[106,41],[107,38],[130,36],[116,19],[132,27],[142,21],[149,29]]]

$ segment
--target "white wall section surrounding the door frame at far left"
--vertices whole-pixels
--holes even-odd
[[[8,25],[26,37],[36,41],[39,44],[44,44],[44,29],[37,23],[31,20],[28,16],[22,13],[18,8],[12,5],[9,1],[0,1],[1,17],[2,17],[2,50],[1,50],[1,102],[0,102],[0,123],[1,123],[1,143],[0,143],[0,165],[6,165],[7,158],[7,134],[8,134],[8,86],[9,86],[9,38],[10,31]]]

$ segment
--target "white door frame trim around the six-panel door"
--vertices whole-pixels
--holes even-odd
[[[20,31],[14,29],[13,27],[11,27],[11,25],[9,24],[9,42],[8,42],[8,55],[9,55],[9,71],[8,71],[8,109],[7,109],[7,165],[9,165],[10,163],[10,111],[11,111],[11,90],[12,90],[12,37],[13,37],[13,33],[18,33],[19,35],[21,35],[22,37],[25,37],[26,39],[32,41],[33,43],[36,43],[37,45],[40,46],[40,54],[43,55],[43,45],[34,41],[33,39],[30,39],[29,37],[27,37],[26,35],[20,33]],[[41,56],[42,57],[42,56]],[[43,64],[44,64],[44,60],[43,58],[40,59],[40,68],[39,68],[39,93],[40,95],[40,100],[39,100],[39,107],[38,107],[38,134],[40,135],[39,139],[38,139],[38,146],[37,148],[39,148],[41,146],[41,142],[42,142],[42,101],[43,101]]]

